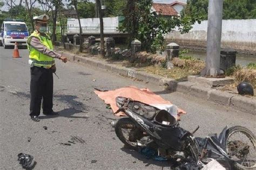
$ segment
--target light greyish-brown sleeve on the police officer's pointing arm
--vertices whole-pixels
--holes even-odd
[[[37,51],[50,56],[51,58],[57,58],[60,59],[60,56],[62,56],[59,53],[56,53],[52,51],[51,49],[48,49],[45,45],[43,45],[40,40],[36,37],[32,37],[30,41],[30,45],[35,48]]]

